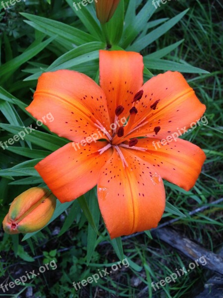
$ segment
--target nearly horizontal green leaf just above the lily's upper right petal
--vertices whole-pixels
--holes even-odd
[[[181,64],[163,59],[144,58],[144,64],[148,69],[152,70],[177,71],[181,73],[192,74],[209,74],[209,72],[199,69],[197,67],[193,67],[189,64]]]

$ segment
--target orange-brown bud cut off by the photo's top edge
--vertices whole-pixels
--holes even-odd
[[[97,17],[102,24],[108,22],[113,16],[120,0],[98,0],[96,2]]]

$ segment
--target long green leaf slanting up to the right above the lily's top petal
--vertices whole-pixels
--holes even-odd
[[[148,33],[146,36],[138,39],[131,46],[129,46],[127,50],[135,52],[142,51],[152,42],[164,35],[170,28],[172,28],[187,13],[188,10],[189,8],[177,14],[176,16],[168,20],[166,23],[162,24],[158,28],[154,29],[152,32]]]

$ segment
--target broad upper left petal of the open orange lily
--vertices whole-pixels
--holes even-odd
[[[52,132],[74,142],[97,133],[97,120],[107,129],[110,125],[103,90],[87,75],[74,71],[42,74],[26,110],[37,119],[45,119]]]

